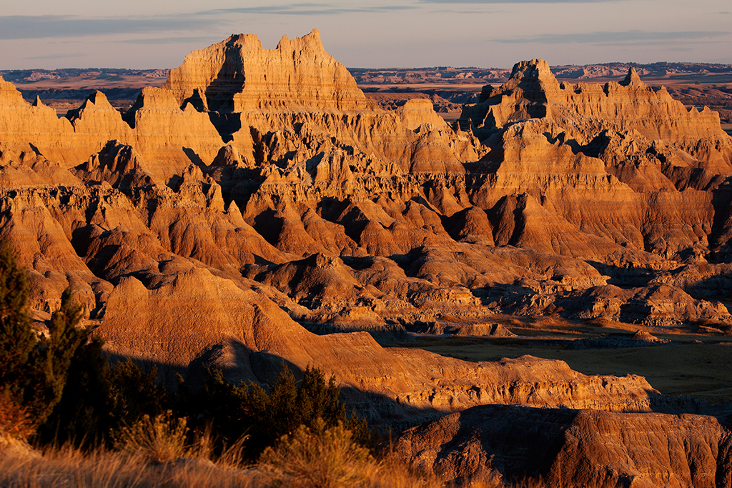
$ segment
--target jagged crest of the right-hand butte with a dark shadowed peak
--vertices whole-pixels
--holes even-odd
[[[601,129],[637,130],[719,169],[729,167],[732,146],[719,127],[719,114],[708,108],[687,110],[665,88],[654,91],[646,86],[632,67],[620,82],[572,86],[556,80],[546,61],[522,61],[507,83],[499,89],[487,86],[480,98],[461,118],[478,131],[533,118],[559,121],[585,137]]]

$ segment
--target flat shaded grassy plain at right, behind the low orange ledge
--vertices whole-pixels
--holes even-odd
[[[732,337],[624,323],[522,320],[503,324],[517,337],[422,335],[401,346],[466,361],[498,361],[526,354],[561,359],[586,375],[641,375],[662,394],[690,395],[712,404],[732,402]],[[567,349],[576,339],[616,337],[610,334],[630,337],[639,329],[671,342],[639,348]]]

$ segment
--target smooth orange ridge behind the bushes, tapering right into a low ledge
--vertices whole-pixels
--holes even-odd
[[[375,421],[414,422],[496,402],[643,411],[651,410],[658,396],[641,377],[581,375],[562,361],[526,356],[473,364],[425,351],[384,349],[367,332],[319,336],[291,320],[266,290],[242,290],[206,269],[179,269],[171,282],[146,285],[144,278],[119,282],[100,332],[120,356],[167,358],[170,380],[173,372],[206,366],[225,369],[231,378],[264,382],[277,372],[281,358],[298,369],[315,364],[337,375],[347,397]],[[187,323],[183,330],[182,322]]]

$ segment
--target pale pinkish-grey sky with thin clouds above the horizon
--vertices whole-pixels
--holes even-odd
[[[313,28],[347,67],[732,63],[730,0],[0,0],[0,70],[171,68],[230,34],[275,48]]]

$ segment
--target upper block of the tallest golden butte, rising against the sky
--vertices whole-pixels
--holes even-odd
[[[295,40],[285,36],[276,49],[263,49],[253,34],[233,35],[186,56],[163,89],[178,105],[200,100],[219,113],[373,108],[346,67],[325,52],[317,30]]]

